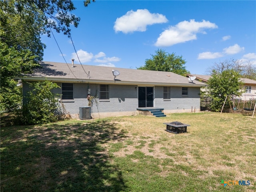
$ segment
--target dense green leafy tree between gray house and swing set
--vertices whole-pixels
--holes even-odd
[[[219,112],[227,95],[241,95],[243,83],[240,75],[234,70],[224,70],[221,73],[213,71],[212,78],[208,80],[208,87],[203,94],[212,99],[211,110]]]

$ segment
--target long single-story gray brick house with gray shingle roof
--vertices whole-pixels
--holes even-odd
[[[61,88],[59,102],[72,116],[80,107],[88,106],[88,97],[95,97],[91,106],[93,118],[134,115],[137,110],[161,108],[164,113],[200,111],[202,82],[188,80],[172,72],[110,68],[58,62],[40,62],[32,74],[19,78],[23,95],[31,90],[26,82],[49,80]]]

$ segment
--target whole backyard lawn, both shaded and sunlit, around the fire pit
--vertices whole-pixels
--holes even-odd
[[[190,124],[166,132],[164,122]],[[250,185],[221,186],[224,181]],[[254,192],[256,118],[213,112],[1,128],[1,192]],[[246,183],[248,184],[248,183]]]

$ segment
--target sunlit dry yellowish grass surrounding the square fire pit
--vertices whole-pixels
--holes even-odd
[[[123,141],[114,156],[125,157],[140,150],[162,162],[168,159],[171,166],[189,166],[200,171],[202,180],[221,177],[226,180],[256,181],[256,120],[237,114],[170,114],[166,118],[147,116],[122,117],[115,122],[128,132],[130,145]],[[136,119],[136,120],[135,120]],[[188,133],[166,132],[163,122],[180,121],[190,124]],[[128,123],[125,123],[128,122]],[[110,149],[112,146],[109,146]],[[170,167],[171,167],[170,166]],[[173,169],[163,169],[163,175]],[[182,171],[183,173],[186,173]],[[161,174],[161,172],[160,172]],[[216,181],[216,185],[218,185]]]

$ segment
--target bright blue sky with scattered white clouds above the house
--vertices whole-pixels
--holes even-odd
[[[192,74],[206,74],[230,59],[256,64],[256,1],[74,1],[81,18],[71,37],[85,65],[136,69],[158,49],[186,60]],[[54,31],[53,31],[54,32]],[[54,36],[68,63],[79,64],[71,40]],[[53,37],[42,36],[44,61],[65,62]]]

